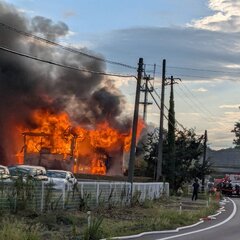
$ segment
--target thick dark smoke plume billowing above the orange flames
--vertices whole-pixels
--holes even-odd
[[[39,16],[29,20],[14,6],[1,2],[0,22],[54,41],[68,34],[65,23],[53,23]],[[105,69],[102,62],[49,46],[2,26],[0,46],[64,65],[94,71]],[[36,109],[54,113],[67,111],[80,124],[94,125],[107,118],[114,127],[123,129],[116,119],[121,115],[124,99],[113,86],[110,90],[105,81],[107,79],[101,75],[60,68],[1,51],[0,164],[13,162],[11,154],[17,151],[17,126],[36,127],[31,119]]]

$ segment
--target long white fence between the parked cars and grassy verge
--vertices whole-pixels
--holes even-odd
[[[168,183],[133,183],[133,201],[169,195]],[[127,182],[78,182],[57,188],[45,182],[0,183],[0,210],[91,209],[98,206],[130,204],[131,184]]]

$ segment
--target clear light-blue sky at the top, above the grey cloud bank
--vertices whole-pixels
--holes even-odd
[[[33,15],[64,21],[79,33],[130,27],[184,25],[208,12],[207,1],[194,0],[8,0]],[[188,6],[191,7],[188,7]]]

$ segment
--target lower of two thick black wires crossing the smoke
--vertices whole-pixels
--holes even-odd
[[[97,72],[97,71],[92,71],[92,70],[88,70],[88,69],[85,69],[85,68],[67,66],[67,65],[63,65],[61,63],[57,63],[57,62],[53,62],[53,61],[49,61],[49,60],[44,60],[44,59],[41,59],[41,58],[38,58],[38,57],[35,57],[35,56],[30,56],[30,55],[25,54],[25,53],[20,53],[20,52],[17,52],[17,51],[14,51],[14,50],[11,50],[11,49],[8,49],[8,48],[5,48],[5,47],[1,47],[1,46],[0,46],[0,50],[15,54],[15,55],[18,55],[18,56],[21,56],[21,57],[26,57],[26,58],[33,59],[33,60],[36,60],[36,61],[39,61],[39,62],[44,62],[44,63],[48,63],[48,64],[51,64],[51,65],[55,65],[55,66],[58,66],[58,67],[63,67],[63,68],[67,68],[67,69],[71,69],[71,70],[75,70],[75,71],[88,72],[88,73],[92,73],[92,74],[112,76],[112,77],[124,77],[124,78],[134,77],[134,78],[136,78],[136,76],[134,76],[134,75],[121,75],[121,74],[114,74],[114,73]]]

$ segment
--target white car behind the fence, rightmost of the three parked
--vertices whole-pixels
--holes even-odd
[[[54,188],[62,189],[63,187],[73,187],[77,179],[70,171],[64,170],[47,170],[48,182],[52,183]]]

